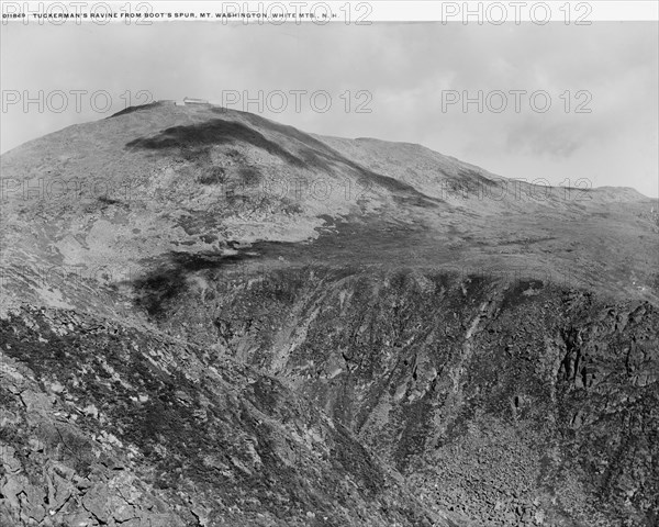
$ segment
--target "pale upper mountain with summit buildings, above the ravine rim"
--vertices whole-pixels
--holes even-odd
[[[68,127],[1,161],[5,303],[112,311],[94,299],[98,282],[149,280],[182,260],[271,267],[279,257],[517,273],[657,301],[657,218],[628,189],[517,187],[418,145],[165,103]],[[270,244],[249,247],[258,242]],[[53,287],[53,266],[91,281]]]

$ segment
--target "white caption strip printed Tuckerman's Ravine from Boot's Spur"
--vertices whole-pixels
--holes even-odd
[[[468,25],[502,25],[559,22],[589,25],[603,21],[659,21],[659,2],[654,0],[596,1],[3,1],[2,24],[8,23],[135,23],[200,21],[222,23],[315,23],[342,22],[368,25],[373,22],[443,22]],[[281,16],[281,13],[287,13]],[[78,18],[59,13],[77,13]],[[111,13],[108,16],[105,13]],[[147,13],[159,16],[145,16]],[[192,18],[178,16],[193,13]],[[210,13],[210,18],[201,16]],[[217,13],[226,13],[217,18]],[[272,16],[275,13],[278,18]],[[310,13],[314,16],[310,16]],[[330,16],[327,15],[330,13]],[[43,16],[45,14],[45,16]],[[93,16],[92,16],[93,15]],[[132,20],[129,20],[132,19]],[[286,20],[283,20],[286,19]]]

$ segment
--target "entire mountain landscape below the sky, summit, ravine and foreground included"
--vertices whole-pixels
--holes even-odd
[[[657,522],[656,200],[168,101],[1,162],[5,525]]]

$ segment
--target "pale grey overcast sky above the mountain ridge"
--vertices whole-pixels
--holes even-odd
[[[137,98],[141,90],[153,99],[215,102],[231,90],[247,90],[254,99],[259,90],[306,90],[299,96],[300,112],[289,93],[282,112],[265,108],[263,114],[306,132],[420,143],[506,177],[554,184],[587,178],[594,187],[634,187],[657,197],[658,33],[656,22],[10,23],[2,26],[3,97],[16,90],[21,98],[25,91],[37,98],[44,90],[48,102],[51,91],[63,90],[68,106],[57,113],[63,101],[52,96],[43,112],[37,104],[24,112],[22,101],[3,108],[0,148],[104,117],[124,108],[126,92],[138,103],[145,100]],[[112,108],[101,112],[105,98],[97,96],[94,111],[89,96],[81,94],[78,112],[71,90],[105,90]],[[324,113],[314,111],[310,98],[319,90],[332,100]],[[372,97],[357,97],[360,90]],[[489,94],[496,90],[509,104],[500,113],[501,93]],[[529,97],[540,90],[551,102],[545,113],[546,96]],[[463,92],[478,100],[479,91],[482,113],[476,102],[467,112],[461,100],[446,104]],[[283,106],[278,96],[269,102],[271,110]],[[322,110],[326,98],[313,102]],[[241,94],[231,108],[243,103]],[[359,103],[371,112],[356,112]],[[259,112],[255,103],[246,109]]]

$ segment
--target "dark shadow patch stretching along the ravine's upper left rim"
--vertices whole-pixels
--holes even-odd
[[[432,238],[423,224],[375,214],[359,222],[321,217],[325,223],[310,242],[259,240],[245,246],[228,242],[236,254],[170,251],[163,259],[144,261],[149,271],[131,284],[135,305],[163,318],[176,299],[200,281],[222,289],[236,280],[264,279],[275,268],[427,267],[456,261],[460,254]]]

